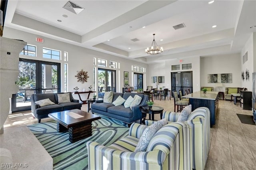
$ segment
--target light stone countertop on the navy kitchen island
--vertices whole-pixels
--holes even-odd
[[[182,98],[216,100],[217,95],[218,91],[207,91],[206,93],[203,93],[203,91],[196,91],[189,95],[184,95]]]

